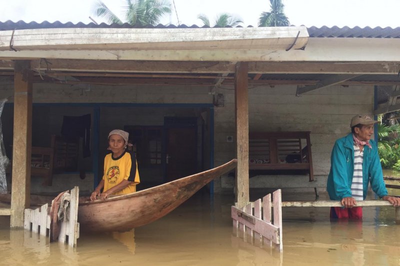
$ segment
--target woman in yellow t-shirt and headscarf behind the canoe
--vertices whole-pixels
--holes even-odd
[[[109,195],[124,195],[136,191],[139,181],[137,162],[134,153],[127,152],[129,133],[114,129],[108,134],[108,150],[111,153],[104,158],[104,175],[97,185],[90,200],[106,199]],[[101,189],[103,192],[100,193]]]

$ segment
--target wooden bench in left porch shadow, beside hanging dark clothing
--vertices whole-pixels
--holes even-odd
[[[77,171],[79,139],[51,135],[50,143],[50,147],[31,148],[30,175],[42,177],[47,186],[52,185],[53,174]]]

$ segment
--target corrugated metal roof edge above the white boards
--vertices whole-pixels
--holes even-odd
[[[146,26],[141,26],[141,25],[130,25],[128,23],[123,23],[123,24],[106,24],[106,23],[100,23],[100,24],[95,24],[93,22],[90,22],[88,24],[85,24],[83,22],[78,22],[76,24],[72,22],[66,22],[62,23],[60,21],[54,21],[54,22],[48,22],[48,21],[43,21],[43,22],[25,22],[22,20],[19,20],[17,22],[13,22],[11,20],[7,20],[5,22],[0,21],[0,30],[13,30],[13,29],[34,29],[34,28],[199,28],[201,26],[198,25],[191,25],[187,26],[185,24],[176,26],[176,25],[162,25],[158,24],[156,26],[153,25],[146,25]],[[208,27],[208,26],[202,26],[202,27]],[[217,27],[217,26],[215,26]],[[252,26],[248,26],[252,27]],[[396,28],[391,28],[391,27],[327,27],[327,26],[322,26],[322,27],[307,27],[308,34],[310,37],[338,37],[338,38],[400,38],[400,27]]]

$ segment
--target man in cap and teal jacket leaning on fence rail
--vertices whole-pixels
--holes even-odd
[[[376,144],[371,140],[375,123],[369,115],[354,116],[351,133],[333,146],[326,190],[329,198],[340,201],[344,208],[331,207],[331,218],[361,219],[362,209],[355,206],[356,201],[365,199],[368,182],[379,198],[400,206],[400,198],[388,196],[383,182]]]

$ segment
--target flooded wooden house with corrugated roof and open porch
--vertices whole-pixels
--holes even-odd
[[[350,118],[400,109],[399,34],[0,22],[1,125],[12,158],[11,208],[1,214],[18,228],[31,192],[91,192],[114,128],[129,132],[138,189],[237,158],[210,195],[234,194],[238,206],[251,189],[318,196]]]

